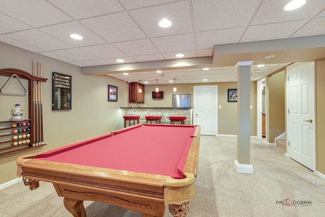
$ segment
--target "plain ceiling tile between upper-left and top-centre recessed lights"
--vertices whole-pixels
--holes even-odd
[[[126,12],[80,20],[80,23],[109,43],[146,38]]]

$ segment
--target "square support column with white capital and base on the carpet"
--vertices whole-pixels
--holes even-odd
[[[239,173],[252,174],[250,165],[250,66],[253,61],[238,62],[237,100],[237,160],[235,169]]]

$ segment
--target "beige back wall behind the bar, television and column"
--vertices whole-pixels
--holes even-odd
[[[236,89],[237,82],[221,82],[221,83],[195,83],[195,84],[177,84],[177,92],[173,92],[174,84],[158,85],[160,91],[164,91],[164,99],[152,99],[152,91],[156,85],[145,86],[145,103],[143,107],[172,107],[173,94],[190,94],[191,106],[193,107],[193,86],[200,85],[218,85],[218,134],[237,135],[237,103],[228,102],[228,89]],[[256,136],[256,82],[251,82],[251,135]],[[135,103],[129,103],[128,106],[135,106]]]

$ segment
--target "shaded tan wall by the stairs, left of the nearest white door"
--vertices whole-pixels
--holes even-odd
[[[267,79],[267,141],[285,132],[285,70]]]

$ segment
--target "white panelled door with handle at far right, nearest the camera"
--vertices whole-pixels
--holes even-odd
[[[287,67],[290,158],[315,170],[315,64]]]

